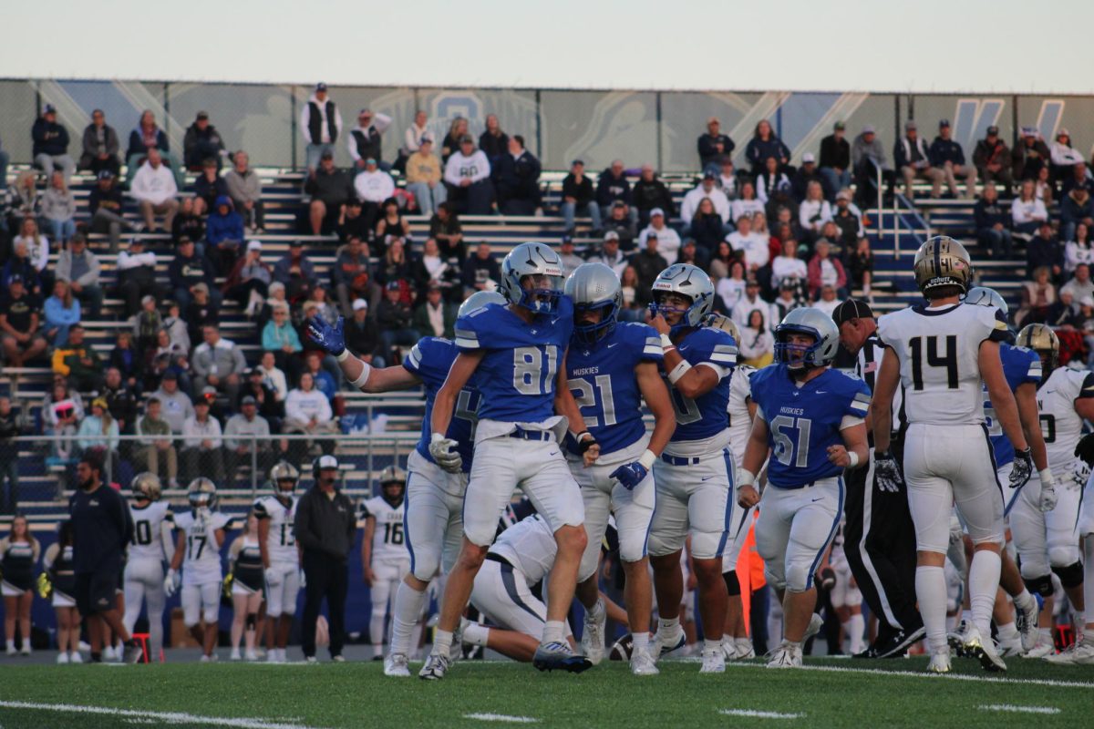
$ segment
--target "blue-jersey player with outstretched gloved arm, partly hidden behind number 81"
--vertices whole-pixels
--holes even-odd
[[[459,316],[468,316],[488,304],[504,304],[504,297],[492,291],[472,294],[459,305]],[[421,422],[421,438],[407,459],[407,496],[404,508],[404,537],[410,552],[410,572],[395,593],[392,636],[384,673],[410,675],[408,657],[415,626],[421,618],[427,589],[438,568],[449,572],[459,553],[463,533],[464,491],[472,465],[472,440],[477,421],[479,392],[467,383],[456,399],[454,418],[447,437],[459,444],[461,468],[452,473],[440,468],[429,452],[430,415],[437,393],[449,375],[458,350],[454,342],[426,337],[415,344],[401,365],[376,369],[353,356],[342,337],[342,320],[330,326],[319,317],[307,321],[309,337],[335,355],[346,379],[363,392],[391,392],[426,386],[426,413]],[[459,645],[456,644],[458,649]]]

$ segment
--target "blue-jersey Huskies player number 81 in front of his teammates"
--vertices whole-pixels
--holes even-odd
[[[475,376],[481,393],[464,496],[464,539],[449,573],[433,649],[419,677],[437,680],[450,665],[453,632],[475,575],[493,541],[498,519],[520,487],[550,525],[558,555],[547,589],[547,620],[533,658],[539,670],[580,672],[592,663],[566,642],[566,616],[585,550],[585,509],[560,445],[567,430],[585,466],[600,455],[567,384],[573,305],[562,295],[562,261],[549,246],[524,243],[502,262],[501,292],[491,304],[456,320],[456,357],[437,393],[429,451],[444,469],[459,469],[459,443],[449,423],[464,385]]]

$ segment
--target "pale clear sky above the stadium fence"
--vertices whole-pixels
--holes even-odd
[[[1090,0],[55,0],[8,20],[8,78],[1094,92]]]

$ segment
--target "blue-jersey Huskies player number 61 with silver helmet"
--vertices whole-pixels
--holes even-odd
[[[750,378],[757,409],[737,499],[745,508],[760,502],[756,473],[770,448],[756,551],[782,600],[785,626],[768,668],[794,668],[802,665],[802,642],[811,632],[813,576],[843,513],[843,469],[864,466],[870,455],[870,389],[829,368],[839,329],[824,311],[794,309],[776,327],[775,339],[776,364]]]

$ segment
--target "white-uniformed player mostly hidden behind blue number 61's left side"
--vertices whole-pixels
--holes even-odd
[[[707,322],[708,327],[714,327],[729,332],[733,341],[741,341],[741,332],[733,319],[713,314]],[[752,433],[752,422],[756,416],[756,403],[752,399],[752,387],[748,378],[756,368],[740,364],[741,356],[737,355],[738,364],[733,374],[730,375],[730,401],[726,412],[730,415],[730,450],[733,451],[735,468],[741,468],[741,459],[745,455],[745,445],[748,443],[748,434]],[[725,633],[722,635],[722,652],[725,660],[745,660],[756,657],[756,649],[753,647],[752,638],[748,637],[748,626],[745,625],[744,607],[741,597],[741,580],[737,579],[737,557],[741,556],[741,549],[748,538],[748,530],[752,528],[753,515],[756,509],[749,507],[743,509],[743,514],[734,515],[736,524],[733,525],[733,541],[725,548],[722,555],[722,579],[725,580],[725,588],[730,593],[730,601],[725,609]]]

